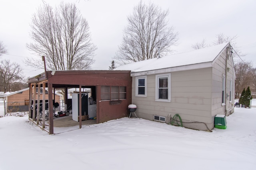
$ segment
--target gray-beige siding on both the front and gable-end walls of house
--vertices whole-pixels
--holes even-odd
[[[226,47],[230,47],[229,44]],[[179,71],[163,68],[161,74],[171,74],[171,101],[158,102],[156,100],[156,74],[139,72],[136,75],[147,75],[147,96],[135,96],[135,76],[132,77],[132,103],[137,105],[138,117],[153,120],[153,115],[166,117],[169,123],[170,116],[179,114],[184,127],[209,130],[214,127],[214,117],[217,114],[229,115],[234,112],[235,72],[232,57],[228,57],[226,74],[227,48],[224,48],[211,63],[198,63],[203,67],[181,66]],[[230,49],[229,49],[230,50]],[[229,51],[228,51],[229,53]],[[199,65],[197,65],[199,66]],[[195,69],[198,68],[198,69]],[[168,71],[169,70],[169,71]],[[175,69],[174,69],[175,70]],[[135,75],[135,74],[134,74]],[[225,100],[222,104],[222,77],[225,76]],[[230,80],[232,80],[232,101],[230,95]]]

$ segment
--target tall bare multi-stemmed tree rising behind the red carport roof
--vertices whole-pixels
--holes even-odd
[[[40,61],[46,57],[46,66],[56,70],[90,69],[94,63],[96,46],[92,43],[88,22],[82,17],[75,4],[62,2],[52,9],[48,4],[40,6],[31,23],[31,38],[27,44]],[[35,59],[26,63],[36,68],[43,64]]]

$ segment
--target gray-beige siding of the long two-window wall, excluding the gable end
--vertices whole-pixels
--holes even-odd
[[[132,103],[139,117],[153,120],[153,115],[167,117],[179,114],[182,121],[212,123],[211,68],[171,73],[171,102],[156,102],[156,75],[147,75],[147,97],[135,96],[135,77],[132,83]]]

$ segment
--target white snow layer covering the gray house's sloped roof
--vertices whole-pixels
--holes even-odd
[[[133,73],[213,62],[214,59],[228,44],[229,43],[224,43],[186,53],[178,53],[174,55],[167,55],[161,58],[154,58],[136,63],[125,64],[115,68],[114,70],[131,70],[131,73]]]

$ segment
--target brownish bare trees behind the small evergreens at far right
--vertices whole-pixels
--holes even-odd
[[[242,90],[251,87],[253,94],[256,92],[256,68],[252,62],[239,62],[234,65],[236,71],[235,98],[239,98]]]

